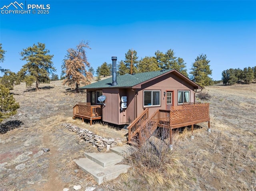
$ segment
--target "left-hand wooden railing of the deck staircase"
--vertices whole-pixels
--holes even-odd
[[[146,108],[140,116],[138,116],[129,126],[128,126],[128,142],[134,138],[134,136],[140,132],[140,127],[142,123],[148,119],[148,108]]]

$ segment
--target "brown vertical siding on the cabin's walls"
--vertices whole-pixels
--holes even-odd
[[[144,107],[143,91],[160,90],[160,106]],[[166,109],[166,96],[164,91],[173,91],[173,106],[178,105],[178,91],[190,91],[190,102],[194,102],[194,87],[191,83],[184,81],[174,73],[169,73],[141,85],[140,89],[110,88],[103,89],[103,95],[106,96],[106,106],[102,109],[102,120],[113,124],[130,124],[139,116],[145,108],[149,108],[151,116],[157,109]],[[136,95],[138,93],[138,95]],[[121,97],[127,96],[127,108],[120,110]],[[97,99],[95,97],[95,99]],[[90,93],[87,94],[87,102],[90,102]]]

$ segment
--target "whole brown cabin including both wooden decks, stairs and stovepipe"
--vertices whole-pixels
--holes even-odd
[[[208,121],[208,103],[194,103],[199,85],[175,69],[116,75],[112,57],[112,78],[81,87],[87,90],[86,102],[74,106],[73,117],[128,124],[128,142],[148,139],[157,127],[170,130]]]

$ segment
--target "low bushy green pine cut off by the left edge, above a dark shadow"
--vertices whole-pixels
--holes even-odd
[[[0,122],[16,114],[19,107],[9,89],[0,85]]]

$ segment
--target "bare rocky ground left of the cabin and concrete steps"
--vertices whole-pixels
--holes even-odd
[[[98,152],[97,147],[62,124],[68,122],[107,139],[125,141],[126,132],[72,120],[72,108],[85,101],[85,93],[70,92],[62,81],[40,86],[38,92],[24,84],[12,91],[20,108],[0,125],[0,191],[55,191],[95,185],[91,177],[85,181],[87,175],[72,160],[84,157],[84,152]],[[44,152],[44,148],[50,151]]]

